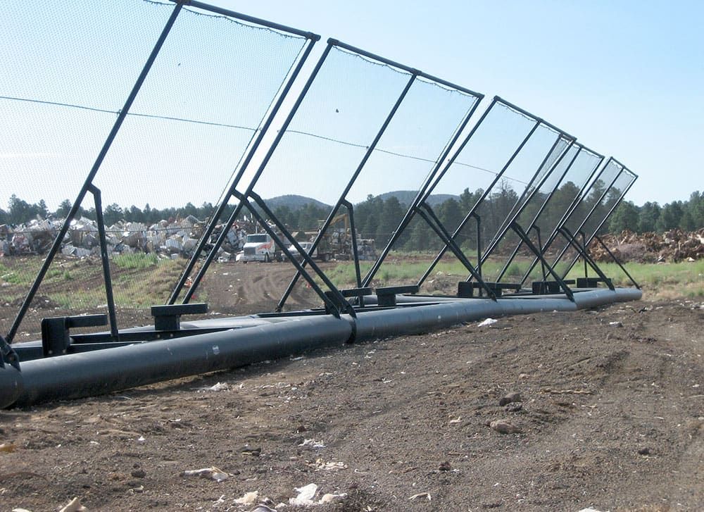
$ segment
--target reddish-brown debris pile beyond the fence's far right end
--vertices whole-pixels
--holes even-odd
[[[692,232],[675,229],[664,234],[651,232],[640,235],[625,230],[601,239],[622,262],[677,263],[704,259],[704,228]],[[591,244],[589,254],[596,261],[610,261],[608,253],[596,242]]]

